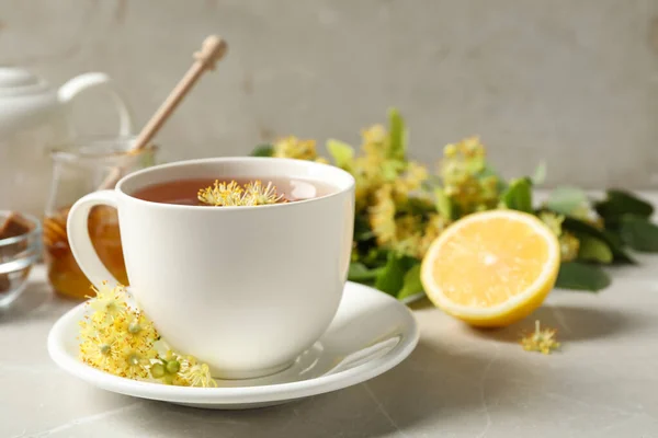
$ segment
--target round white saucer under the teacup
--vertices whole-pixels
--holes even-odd
[[[76,337],[84,311],[84,304],[76,307],[50,330],[48,353],[59,367],[107,391],[215,410],[274,405],[363,382],[402,361],[419,336],[405,304],[348,283],[327,332],[288,369],[258,379],[217,380],[218,388],[184,388],[129,380],[81,362]]]

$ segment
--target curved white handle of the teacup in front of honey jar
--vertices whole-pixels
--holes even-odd
[[[103,265],[89,237],[89,212],[99,205],[116,208],[116,194],[114,191],[93,192],[78,199],[68,214],[66,232],[73,257],[76,257],[78,266],[80,266],[87,278],[97,288],[100,288],[103,284],[114,287],[120,283]]]

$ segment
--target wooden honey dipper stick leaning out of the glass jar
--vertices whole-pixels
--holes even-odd
[[[194,64],[141,129],[128,153],[136,153],[150,142],[203,72],[214,70],[215,64],[224,57],[227,49],[226,42],[216,35],[211,35],[204,39],[201,50],[194,54]],[[113,169],[99,189],[114,187],[116,182],[122,177],[122,173],[123,170],[121,168]]]

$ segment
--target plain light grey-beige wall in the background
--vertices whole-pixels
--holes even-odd
[[[356,141],[398,106],[411,154],[483,136],[506,175],[658,187],[658,0],[1,0],[0,62],[110,73],[143,124],[203,37],[230,51],[160,135],[167,160],[296,134]],[[115,120],[100,96],[86,132]]]

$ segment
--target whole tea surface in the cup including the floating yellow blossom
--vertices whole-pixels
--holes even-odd
[[[237,207],[294,203],[326,196],[333,192],[336,192],[334,187],[309,180],[227,177],[224,181],[211,178],[168,181],[148,185],[133,193],[132,196],[160,204]]]

